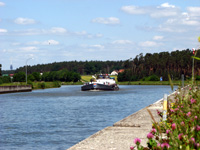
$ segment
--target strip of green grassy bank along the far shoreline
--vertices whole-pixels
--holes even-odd
[[[125,81],[125,82],[118,82],[117,76],[114,77],[118,85],[170,85],[170,81]],[[84,82],[90,82],[92,78],[91,75],[82,75],[81,81],[78,82],[61,82],[61,81],[54,81],[54,82],[44,82],[44,81],[37,81],[37,82],[28,82],[29,85],[32,85],[33,90],[36,89],[47,89],[47,88],[59,88],[62,85],[83,85]],[[177,80],[173,81],[174,85],[181,86],[182,81]],[[191,80],[184,81],[184,85],[191,84]],[[200,84],[200,81],[196,81],[196,85]],[[3,83],[0,86],[17,86],[17,85],[26,85],[25,82],[12,82],[12,83]]]

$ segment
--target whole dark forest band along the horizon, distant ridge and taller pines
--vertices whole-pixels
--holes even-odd
[[[135,58],[120,61],[68,61],[54,62],[49,64],[38,64],[27,66],[28,74],[34,72],[46,73],[67,70],[80,75],[93,75],[99,73],[110,74],[114,70],[124,69],[119,73],[118,81],[138,81],[146,80],[151,77],[153,80],[168,80],[170,74],[173,80],[181,79],[184,74],[185,79],[192,76],[192,50],[176,50],[172,52],[160,53],[142,53]],[[197,57],[200,57],[200,50],[197,51]],[[195,75],[200,75],[200,61],[194,61]],[[3,71],[4,73],[6,71]],[[15,73],[25,72],[25,66],[15,70]],[[52,73],[51,73],[52,74]]]

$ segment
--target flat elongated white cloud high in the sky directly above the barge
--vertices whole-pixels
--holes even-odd
[[[109,18],[95,18],[92,20],[92,22],[94,23],[101,23],[101,24],[110,24],[110,25],[114,25],[114,24],[120,24],[120,20],[119,18],[116,17],[109,17]]]

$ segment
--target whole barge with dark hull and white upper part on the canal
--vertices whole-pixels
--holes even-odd
[[[82,87],[82,91],[89,90],[104,90],[104,91],[114,91],[119,90],[118,85],[115,82],[115,78],[110,77],[109,75],[98,75],[97,78],[93,76],[91,82],[85,83]]]

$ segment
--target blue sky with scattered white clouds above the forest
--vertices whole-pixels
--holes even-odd
[[[0,0],[2,70],[198,48],[198,36],[200,0]]]

